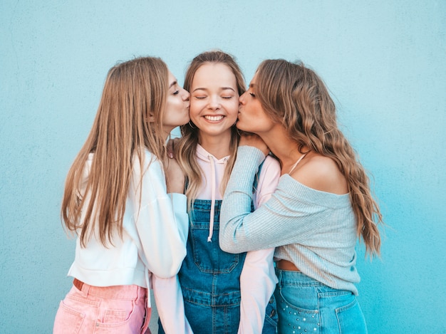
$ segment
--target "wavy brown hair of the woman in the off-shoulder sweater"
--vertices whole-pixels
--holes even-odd
[[[383,217],[356,152],[338,129],[336,107],[326,85],[303,63],[281,59],[263,61],[256,75],[256,97],[271,119],[299,144],[299,150],[309,147],[337,163],[347,180],[358,237],[362,236],[366,254],[379,255],[377,224],[383,224]]]

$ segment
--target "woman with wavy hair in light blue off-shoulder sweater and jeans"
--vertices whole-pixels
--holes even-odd
[[[356,300],[356,241],[380,253],[368,177],[336,124],[321,78],[302,63],[260,64],[240,97],[242,137],[222,204],[219,242],[238,253],[276,247],[279,333],[367,333]],[[254,175],[272,152],[281,179],[251,212]]]

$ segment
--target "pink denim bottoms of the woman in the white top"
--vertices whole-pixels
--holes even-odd
[[[147,288],[83,283],[81,289],[73,286],[59,304],[53,333],[146,333],[151,313]]]

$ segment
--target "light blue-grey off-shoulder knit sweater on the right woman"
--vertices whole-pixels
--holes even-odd
[[[251,213],[252,184],[264,154],[241,146],[220,215],[220,247],[229,253],[276,247],[321,283],[358,294],[356,219],[348,194],[311,189],[284,174],[268,202]]]

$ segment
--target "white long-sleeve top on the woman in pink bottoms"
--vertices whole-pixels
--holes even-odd
[[[85,192],[92,161],[93,153],[85,163],[81,194]],[[84,205],[88,205],[90,194],[84,196]],[[145,150],[144,169],[140,170],[137,157],[133,163],[123,238],[116,232],[113,246],[104,247],[96,231],[85,248],[77,239],[76,256],[68,276],[92,286],[135,284],[149,288],[152,273],[168,278],[180,270],[186,255],[188,229],[185,195],[167,194],[162,165]],[[150,300],[148,303],[150,306]]]

